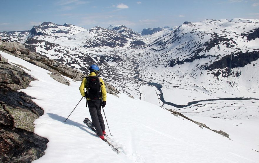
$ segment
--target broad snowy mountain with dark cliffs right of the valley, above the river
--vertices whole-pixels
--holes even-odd
[[[258,20],[246,19],[185,22],[128,56],[135,59],[137,71],[142,72],[137,78],[161,84],[167,102],[178,103],[182,98],[185,103],[220,97],[258,98],[258,28]]]

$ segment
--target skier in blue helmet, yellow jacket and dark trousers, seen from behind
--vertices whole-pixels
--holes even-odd
[[[86,106],[88,104],[89,113],[92,118],[93,125],[97,130],[97,135],[102,140],[104,140],[103,134],[105,134],[105,125],[102,117],[101,107],[104,108],[104,106],[106,105],[106,89],[102,78],[98,77],[98,74],[100,72],[99,67],[93,64],[89,67],[89,70],[90,70],[90,74],[88,77],[85,77],[82,80],[79,90],[81,95],[87,99]],[[99,89],[98,90],[99,92],[93,93],[89,91],[89,90],[94,90],[94,88],[90,88],[91,87],[90,83],[94,80],[98,80],[98,78],[99,78],[98,85],[101,87],[101,91]],[[96,86],[97,84],[94,84],[94,85]],[[86,92],[84,91],[84,88],[86,88],[87,90]]]

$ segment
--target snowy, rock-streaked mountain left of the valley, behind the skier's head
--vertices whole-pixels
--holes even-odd
[[[124,28],[129,33],[132,32],[131,29],[125,26]],[[131,64],[125,57],[125,50],[145,44],[139,40],[141,36],[137,33],[136,36],[138,37],[126,36],[98,26],[87,30],[73,25],[62,26],[45,22],[34,26],[20,43],[24,43],[31,51],[67,64],[85,74],[88,73],[88,65],[98,64],[104,78],[108,81],[119,80],[115,85],[123,88],[122,91],[127,91],[130,88],[125,88],[123,81],[130,83],[132,79],[124,75],[128,73],[128,68],[125,69],[124,65]],[[120,73],[123,75],[119,75]]]

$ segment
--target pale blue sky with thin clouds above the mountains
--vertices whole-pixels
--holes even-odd
[[[123,24],[180,26],[205,19],[259,19],[259,0],[0,0],[0,31],[30,30],[43,22],[86,29]]]

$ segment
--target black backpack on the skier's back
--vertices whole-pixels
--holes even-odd
[[[86,77],[86,97],[92,101],[97,101],[102,95],[101,82],[98,76]]]

